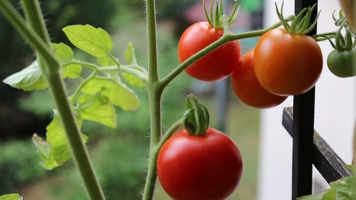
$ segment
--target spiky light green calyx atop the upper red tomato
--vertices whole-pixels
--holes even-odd
[[[222,0],[220,0],[220,3],[216,3],[215,6],[215,14],[214,14],[214,0],[212,0],[212,4],[210,5],[210,12],[207,14],[206,6],[205,6],[205,1],[203,1],[204,5],[204,14],[207,22],[214,28],[217,29],[228,29],[233,22],[238,18],[238,13],[240,10],[240,6],[238,5],[238,1],[234,0],[235,5],[233,7],[233,10],[230,14],[229,17],[224,15],[224,8],[222,4]]]

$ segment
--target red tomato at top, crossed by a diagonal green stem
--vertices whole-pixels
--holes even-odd
[[[178,44],[178,57],[182,63],[201,49],[215,42],[224,34],[222,29],[213,28],[207,22],[189,26]],[[201,81],[219,81],[229,76],[241,56],[239,41],[229,42],[201,57],[185,71]]]

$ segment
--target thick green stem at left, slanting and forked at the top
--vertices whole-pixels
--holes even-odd
[[[26,2],[27,1],[27,2]],[[48,87],[54,99],[58,114],[60,115],[75,163],[78,166],[84,185],[91,199],[105,199],[95,175],[93,165],[82,141],[81,134],[72,107],[68,102],[67,90],[60,73],[60,62],[50,48],[48,32],[41,14],[39,3],[36,0],[26,0],[23,3],[24,11],[30,25],[19,15],[9,1],[0,1],[0,10],[9,22],[17,29],[19,34],[40,54],[39,60]],[[29,2],[32,1],[32,2]],[[30,14],[31,13],[31,14]],[[38,21],[39,20],[39,21]],[[34,29],[42,35],[39,36]],[[45,41],[44,41],[45,40]],[[46,41],[48,40],[48,41]]]

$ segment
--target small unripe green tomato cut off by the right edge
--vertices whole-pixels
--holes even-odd
[[[334,49],[328,55],[328,68],[335,76],[341,78],[356,76],[356,68],[353,65],[354,57],[356,57],[355,47],[350,51],[339,51]]]

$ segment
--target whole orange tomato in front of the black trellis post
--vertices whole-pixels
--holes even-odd
[[[264,89],[276,95],[298,95],[311,89],[319,79],[322,54],[313,38],[277,28],[257,42],[254,64]]]

